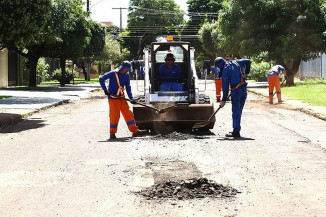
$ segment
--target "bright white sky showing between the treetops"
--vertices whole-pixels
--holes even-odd
[[[86,5],[87,0],[83,0]],[[91,18],[98,22],[111,21],[113,25],[120,26],[120,9],[112,8],[128,8],[129,0],[89,0]],[[187,12],[187,0],[174,0],[181,10]],[[84,7],[86,10],[86,6]],[[122,9],[122,27],[127,26],[128,9]],[[185,17],[186,19],[186,17]]]

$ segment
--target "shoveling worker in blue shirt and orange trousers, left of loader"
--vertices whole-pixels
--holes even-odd
[[[101,76],[99,82],[105,95],[108,96],[110,106],[110,139],[116,139],[115,134],[117,133],[118,123],[120,119],[120,112],[122,113],[129,130],[133,133],[133,137],[139,137],[144,135],[144,131],[139,131],[136,126],[134,114],[129,109],[129,105],[125,99],[119,97],[125,97],[124,90],[126,89],[128,97],[132,104],[135,104],[131,92],[130,76],[131,63],[123,61],[121,65]],[[105,86],[105,81],[109,80],[108,88]],[[125,88],[125,89],[124,89]]]

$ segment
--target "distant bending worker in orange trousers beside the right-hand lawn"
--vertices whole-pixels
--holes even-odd
[[[268,71],[267,77],[268,77],[268,86],[269,86],[269,104],[273,104],[274,87],[276,89],[278,103],[283,102],[281,97],[281,85],[280,85],[280,78],[279,78],[279,74],[281,72],[283,72],[284,76],[286,76],[285,68],[281,65],[275,65]]]

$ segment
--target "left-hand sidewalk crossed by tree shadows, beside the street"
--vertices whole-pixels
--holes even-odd
[[[21,121],[40,110],[67,103],[69,101],[89,98],[92,91],[100,89],[99,84],[67,84],[49,90],[0,90],[0,129]]]

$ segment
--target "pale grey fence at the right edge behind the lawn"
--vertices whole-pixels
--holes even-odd
[[[326,79],[326,54],[309,61],[301,61],[298,73],[300,79],[324,78]]]

